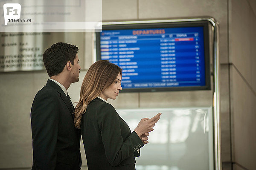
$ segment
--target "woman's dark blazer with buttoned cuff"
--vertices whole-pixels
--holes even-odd
[[[111,104],[93,99],[82,116],[81,134],[89,170],[135,170],[144,144]]]

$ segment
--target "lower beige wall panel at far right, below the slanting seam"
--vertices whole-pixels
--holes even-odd
[[[233,162],[249,170],[256,169],[256,94],[232,66],[231,121]]]

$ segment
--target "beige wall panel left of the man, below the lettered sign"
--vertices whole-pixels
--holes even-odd
[[[0,74],[0,168],[30,167],[33,73]]]

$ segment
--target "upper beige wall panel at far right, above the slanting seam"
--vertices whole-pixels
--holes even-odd
[[[251,85],[250,6],[244,0],[232,0],[230,24],[230,63]]]

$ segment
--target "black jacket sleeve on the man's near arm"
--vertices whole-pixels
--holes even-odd
[[[33,164],[39,170],[56,167],[58,107],[58,97],[49,91],[36,96],[32,104]]]

